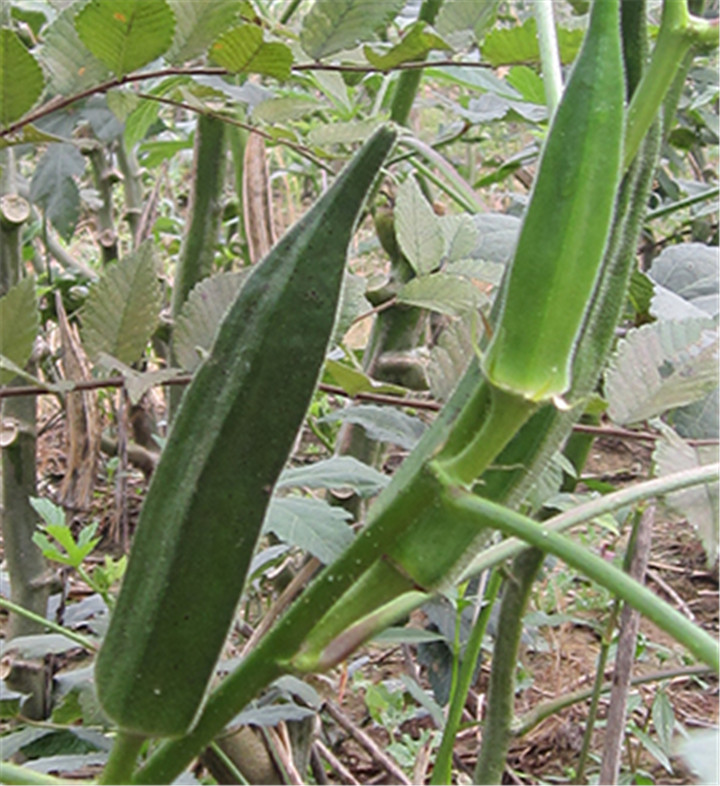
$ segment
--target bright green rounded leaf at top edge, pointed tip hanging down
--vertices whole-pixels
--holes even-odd
[[[75,29],[98,60],[123,76],[167,51],[175,17],[166,0],[90,0]]]

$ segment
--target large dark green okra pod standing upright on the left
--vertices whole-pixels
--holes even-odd
[[[378,131],[255,268],[183,397],[96,665],[123,729],[192,724],[335,320],[348,243],[395,140]]]

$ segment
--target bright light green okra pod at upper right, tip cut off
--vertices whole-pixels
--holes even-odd
[[[484,359],[488,379],[531,401],[570,386],[620,180],[625,83],[619,0],[595,0],[542,152],[504,301]]]

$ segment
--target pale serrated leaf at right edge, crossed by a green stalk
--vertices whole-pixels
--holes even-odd
[[[681,439],[670,426],[658,423],[662,439],[653,453],[656,474],[660,477],[684,469],[694,469],[718,460],[717,445],[693,447]],[[695,528],[707,554],[708,565],[718,556],[718,484],[696,486],[668,494],[665,504],[686,518]]]

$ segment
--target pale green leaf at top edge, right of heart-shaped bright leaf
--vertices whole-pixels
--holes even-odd
[[[175,14],[175,37],[165,59],[173,65],[182,65],[204,54],[221,33],[233,26],[244,5],[243,0],[168,2]]]

